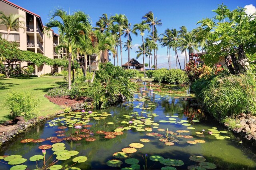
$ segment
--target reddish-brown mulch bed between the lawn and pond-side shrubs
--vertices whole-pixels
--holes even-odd
[[[59,98],[52,98],[51,96],[47,96],[45,95],[46,98],[48,98],[48,100],[50,100],[50,102],[57,104],[59,106],[72,106],[73,104],[76,103],[83,103],[84,100],[86,100],[85,97],[80,98],[79,100],[75,100],[75,99],[71,99],[70,96],[62,96]]]

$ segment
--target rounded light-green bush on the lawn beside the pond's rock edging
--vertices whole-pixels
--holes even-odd
[[[35,117],[38,102],[32,94],[18,91],[8,94],[6,98],[6,106],[10,109],[11,119],[16,116],[23,116],[26,120]]]

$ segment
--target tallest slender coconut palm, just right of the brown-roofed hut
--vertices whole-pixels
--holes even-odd
[[[154,37],[154,30],[156,29],[156,25],[161,26],[162,25],[162,20],[157,20],[157,18],[154,18],[154,14],[152,11],[148,12],[145,14],[142,19],[145,19],[147,23],[152,26],[152,36],[153,36],[153,41],[155,42],[155,37]],[[157,68],[156,66],[156,53],[154,50],[154,67],[155,69]]]

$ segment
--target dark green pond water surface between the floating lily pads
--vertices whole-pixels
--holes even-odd
[[[167,87],[167,88],[166,88]],[[28,169],[35,169],[36,162],[29,160],[31,156],[36,154],[42,154],[42,150],[38,149],[41,145],[52,145],[50,141],[44,141],[42,143],[20,143],[23,139],[46,139],[48,137],[56,137],[55,131],[65,130],[66,136],[75,134],[74,123],[89,124],[92,127],[90,129],[90,136],[94,137],[96,141],[88,142],[83,138],[80,141],[62,141],[65,144],[66,150],[77,150],[79,152],[76,156],[86,156],[88,160],[83,163],[78,163],[75,167],[81,169],[120,169],[130,167],[130,164],[125,163],[125,159],[115,158],[112,156],[115,152],[121,152],[122,149],[129,147],[131,143],[142,143],[144,147],[137,149],[136,152],[127,154],[129,157],[139,160],[140,168],[143,169],[145,165],[144,156],[148,155],[147,166],[148,169],[161,169],[166,166],[160,162],[154,162],[149,159],[152,155],[159,155],[164,158],[182,160],[184,164],[182,166],[173,166],[177,169],[187,169],[190,165],[198,165],[198,162],[190,160],[190,156],[204,156],[206,162],[216,164],[216,169],[256,169],[255,158],[255,146],[247,145],[246,143],[239,143],[240,139],[227,129],[224,129],[221,125],[213,121],[211,118],[204,116],[200,110],[200,106],[197,106],[194,98],[186,95],[186,88],[174,87],[166,85],[165,88],[161,88],[158,85],[143,85],[140,84],[140,93],[134,94],[136,100],[134,102],[124,103],[120,106],[110,107],[104,110],[98,110],[97,113],[93,113],[94,116],[84,118],[83,115],[77,113],[71,113],[68,119],[64,117],[56,117],[53,121],[49,120],[45,124],[38,125],[26,133],[14,138],[12,141],[2,145],[0,148],[0,155],[22,155],[27,159],[26,164]],[[187,96],[187,97],[186,97]],[[140,99],[141,98],[141,99]],[[146,109],[148,108],[148,109]],[[106,113],[111,115],[105,115]],[[142,113],[141,113],[142,112]],[[81,112],[80,112],[81,113]],[[155,113],[155,114],[154,114]],[[98,114],[98,115],[97,115]],[[103,114],[103,115],[102,115]],[[87,114],[88,115],[88,114]],[[130,117],[129,117],[130,116]],[[174,116],[174,117],[173,117]],[[95,120],[95,117],[101,117],[99,120]],[[103,117],[103,118],[102,118]],[[106,118],[104,118],[106,117]],[[159,141],[159,138],[155,136],[148,136],[150,131],[138,131],[138,124],[134,123],[122,123],[122,121],[136,121],[143,119],[150,119],[156,123],[154,125],[144,125],[141,129],[152,128],[153,133],[166,134],[166,130],[176,132],[177,130],[187,130],[187,133],[180,133],[181,135],[191,135],[192,139],[186,139],[184,137],[175,137],[171,141],[174,145],[167,146],[164,142]],[[162,120],[170,121],[174,120],[175,123],[159,122]],[[58,129],[58,126],[68,126],[66,121],[73,120],[67,129]],[[90,119],[90,121],[89,121]],[[193,119],[200,119],[199,122],[192,121]],[[60,121],[62,120],[62,121]],[[190,123],[190,126],[184,126],[180,121],[185,120]],[[86,122],[88,121],[88,122]],[[108,124],[113,122],[114,124]],[[157,125],[159,124],[159,125]],[[97,134],[96,131],[114,132],[118,127],[130,127],[134,125],[136,128],[130,130],[123,130],[122,135],[116,135],[113,139],[104,138],[105,135]],[[143,126],[144,125],[144,126]],[[187,129],[187,127],[194,127],[195,129]],[[215,136],[208,134],[208,129],[216,127],[218,131],[228,131],[228,133],[220,133],[219,135],[226,136],[224,140],[218,140]],[[83,127],[83,129],[85,129]],[[158,131],[158,129],[164,129],[165,131]],[[196,132],[202,132],[203,134],[196,134]],[[175,135],[174,135],[175,136]],[[227,137],[230,137],[227,138]],[[59,139],[63,137],[58,137]],[[150,142],[144,143],[140,139],[149,139]],[[186,141],[203,140],[205,143],[196,143],[195,145],[189,144]],[[46,158],[52,155],[51,149],[46,150]],[[76,156],[72,156],[75,158]],[[143,156],[143,157],[142,157]],[[72,158],[68,160],[59,160],[57,164],[65,166],[66,164],[72,165]],[[54,160],[53,156],[50,160]],[[106,165],[108,160],[117,159],[123,163],[119,167],[111,167]],[[10,169],[12,166],[6,163],[4,160],[0,162],[0,169]],[[42,166],[42,160],[38,162]]]

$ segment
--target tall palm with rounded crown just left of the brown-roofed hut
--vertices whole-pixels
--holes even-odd
[[[128,25],[128,20],[125,15],[123,14],[116,14],[115,16],[110,17],[113,22],[118,24],[118,32],[119,32],[119,41],[120,41],[120,58],[121,58],[121,66],[122,66],[122,40],[121,34],[124,25]]]

